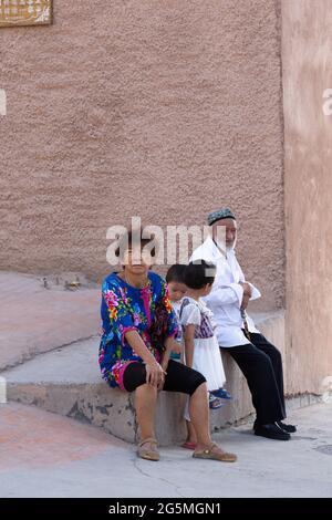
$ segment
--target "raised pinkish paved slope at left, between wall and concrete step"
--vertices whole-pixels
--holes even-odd
[[[0,272],[0,370],[100,332],[100,288],[80,274],[81,287],[65,290],[76,274],[48,278]]]

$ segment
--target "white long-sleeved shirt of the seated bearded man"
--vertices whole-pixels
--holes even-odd
[[[231,347],[247,344],[248,339],[242,332],[243,319],[240,310],[243,289],[239,284],[239,282],[245,282],[246,279],[234,249],[227,250],[225,257],[211,237],[208,237],[199,248],[195,249],[190,261],[199,259],[212,262],[217,267],[212,290],[204,300],[215,315],[215,332],[219,345]],[[260,291],[252,283],[250,283],[250,287],[252,289],[250,300],[260,298]],[[259,333],[248,315],[247,323],[249,332]]]

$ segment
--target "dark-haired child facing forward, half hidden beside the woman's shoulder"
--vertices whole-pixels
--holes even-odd
[[[186,294],[187,287],[184,283],[184,272],[187,266],[175,263],[172,266],[166,274],[166,282],[168,285],[168,294],[170,304],[175,311],[177,321],[178,321],[178,333],[175,337],[176,343],[178,344],[178,349],[174,347],[173,352],[170,353],[170,358],[180,361],[181,352],[183,352],[183,333],[181,333],[181,325],[179,321],[179,310],[181,306],[181,300]]]

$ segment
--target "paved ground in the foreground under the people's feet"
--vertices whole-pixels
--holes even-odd
[[[0,405],[0,497],[331,497],[332,404],[295,410],[288,443],[255,437],[249,426],[215,439],[235,465],[195,460],[178,447],[159,462],[133,445],[35,407]]]

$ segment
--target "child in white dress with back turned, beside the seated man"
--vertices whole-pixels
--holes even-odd
[[[209,391],[209,405],[212,409],[222,406],[222,398],[230,398],[222,388],[226,377],[218,341],[214,334],[212,313],[201,300],[211,291],[215,274],[216,266],[204,260],[196,260],[186,267],[183,280],[187,285],[187,292],[179,313],[186,365],[205,376]],[[183,447],[195,449],[196,433],[190,424],[188,406],[185,418],[188,437]]]

